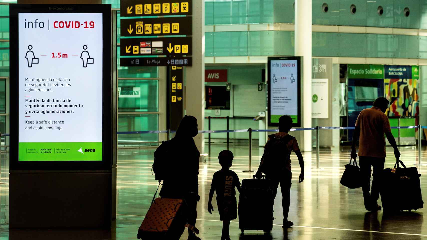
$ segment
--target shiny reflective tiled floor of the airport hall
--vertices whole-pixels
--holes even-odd
[[[210,153],[206,162],[200,163],[198,222],[200,237],[203,240],[219,240],[222,223],[217,211],[209,214],[206,210],[208,193],[212,175],[220,166],[215,156],[224,146],[213,145],[207,151]],[[247,147],[232,146],[235,159],[231,167],[240,179],[249,178],[252,173],[243,173],[248,168]],[[253,149],[253,168],[257,167],[262,148]],[[392,149],[388,149],[386,168],[391,168],[395,160]],[[414,147],[401,147],[402,160],[407,166],[416,163],[417,151]],[[10,230],[8,229],[8,164],[5,156],[0,162],[0,240],[5,239],[136,239],[137,228],[149,208],[152,196],[157,188],[157,182],[151,175],[153,150],[120,150],[117,171],[117,220],[112,224],[111,231],[107,230]],[[320,168],[316,167],[316,153],[303,153],[305,162],[305,180],[298,184],[300,173],[298,161],[292,156],[292,188],[289,220],[295,226],[283,231],[281,229],[281,206],[275,205],[275,226],[271,235],[260,231],[245,231],[240,235],[238,219],[231,223],[232,240],[323,240],[323,239],[426,239],[427,226],[424,226],[424,214],[427,210],[419,209],[412,212],[398,212],[391,215],[382,211],[371,213],[363,207],[361,189],[350,190],[339,184],[339,179],[348,163],[349,149],[341,147],[337,151],[321,151]],[[423,158],[427,164],[427,149],[423,149]],[[427,166],[418,166],[421,173],[423,196],[427,196]],[[397,190],[398,191],[398,190]],[[424,199],[425,200],[425,199]],[[280,191],[276,202],[281,201]],[[214,201],[215,202],[215,201]],[[215,204],[215,203],[214,203]],[[216,208],[216,205],[214,205]],[[256,208],[256,206],[254,206]],[[48,210],[47,210],[48,211]],[[185,233],[181,239],[186,239]]]

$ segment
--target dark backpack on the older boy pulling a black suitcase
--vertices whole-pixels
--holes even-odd
[[[269,135],[263,157],[261,158],[260,171],[266,176],[281,175],[285,170],[285,162],[290,162],[291,151],[286,145],[295,139],[293,136],[287,135],[283,138],[277,138],[275,134]]]

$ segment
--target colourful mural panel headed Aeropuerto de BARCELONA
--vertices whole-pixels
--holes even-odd
[[[384,65],[384,70],[384,95],[390,101],[387,116],[418,116],[419,67]]]

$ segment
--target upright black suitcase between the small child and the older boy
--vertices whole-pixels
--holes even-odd
[[[268,179],[243,179],[245,197],[239,197],[239,228],[271,231],[273,228],[273,201],[271,181]]]

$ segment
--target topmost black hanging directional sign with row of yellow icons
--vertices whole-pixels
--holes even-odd
[[[120,0],[121,17],[191,15],[193,0]]]

